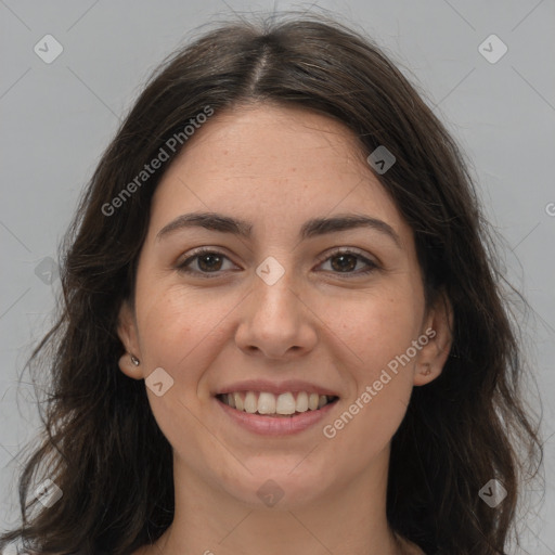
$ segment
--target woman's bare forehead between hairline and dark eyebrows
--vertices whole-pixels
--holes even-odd
[[[225,210],[255,231],[367,214],[411,233],[346,126],[271,104],[217,113],[190,138],[154,195],[153,225],[185,210]]]

